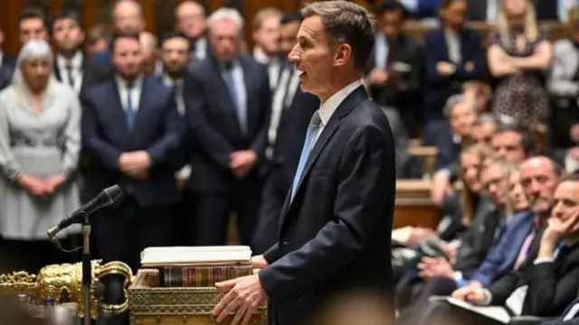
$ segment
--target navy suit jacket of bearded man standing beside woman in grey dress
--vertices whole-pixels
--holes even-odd
[[[90,88],[83,97],[82,145],[87,153],[83,200],[118,183],[143,207],[163,207],[180,200],[174,173],[175,154],[185,124],[178,116],[174,92],[155,79],[144,78],[135,120],[128,130],[117,82]],[[121,153],[145,150],[151,156],[149,178],[138,181],[119,170]]]

